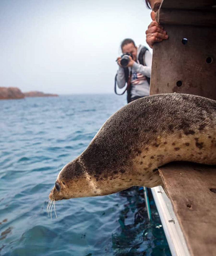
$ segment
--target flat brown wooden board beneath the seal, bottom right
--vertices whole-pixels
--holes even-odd
[[[191,255],[215,256],[216,167],[176,162],[159,172]]]

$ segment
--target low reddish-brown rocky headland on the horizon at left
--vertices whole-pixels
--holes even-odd
[[[0,100],[23,99],[25,97],[52,97],[58,94],[43,93],[39,91],[21,92],[17,87],[0,87]]]

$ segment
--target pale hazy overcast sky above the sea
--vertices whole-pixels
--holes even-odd
[[[0,0],[0,86],[113,93],[124,38],[145,42],[144,0]]]

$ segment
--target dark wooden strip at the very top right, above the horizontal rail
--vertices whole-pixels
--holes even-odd
[[[212,9],[216,6],[216,0],[163,0],[161,8],[174,9]]]

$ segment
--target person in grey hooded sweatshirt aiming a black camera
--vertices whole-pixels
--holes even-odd
[[[116,82],[119,88],[127,83],[129,103],[149,95],[152,54],[144,46],[137,47],[130,38],[122,41],[121,50],[123,55],[117,58]]]

